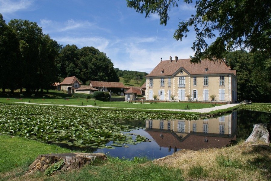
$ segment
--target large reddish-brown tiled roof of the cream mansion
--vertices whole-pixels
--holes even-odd
[[[202,60],[198,64],[191,64],[190,60],[191,59],[179,59],[177,62],[175,60],[160,61],[159,64],[151,71],[151,73],[146,75],[146,77],[173,76],[174,74],[178,73],[180,69],[183,69],[190,75],[233,73],[236,76],[236,70],[231,70],[231,68],[223,60]],[[208,68],[208,71],[205,71],[206,68]]]

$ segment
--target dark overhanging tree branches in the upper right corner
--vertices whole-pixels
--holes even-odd
[[[127,6],[149,17],[158,13],[160,24],[167,25],[169,12],[178,0],[126,0]],[[184,0],[193,3],[193,0]],[[182,41],[190,27],[196,32],[192,62],[202,58],[224,58],[223,54],[236,47],[250,51],[263,50],[271,55],[271,1],[270,0],[196,0],[196,14],[181,20],[174,39]],[[208,45],[206,39],[218,38]]]

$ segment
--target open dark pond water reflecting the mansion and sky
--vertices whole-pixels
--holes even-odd
[[[114,147],[115,149],[84,148],[84,150],[119,158],[157,159],[180,149],[225,147],[237,139],[246,139],[253,129],[253,124],[268,123],[270,120],[269,113],[247,110],[233,111],[230,114],[204,120],[124,120],[125,124],[143,127],[124,134],[130,134],[132,139],[137,135],[145,136],[149,142],[126,144],[123,147]],[[106,145],[110,146],[112,143],[111,141]]]

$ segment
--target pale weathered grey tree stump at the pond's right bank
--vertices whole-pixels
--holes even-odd
[[[270,142],[271,123],[254,124],[252,133],[245,141],[256,142],[257,140],[263,140],[266,143]]]

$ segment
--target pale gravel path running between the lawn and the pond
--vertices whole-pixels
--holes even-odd
[[[80,105],[52,105],[52,104],[37,104],[37,103],[28,103],[28,102],[17,102],[17,103],[23,103],[23,104],[33,104],[33,105],[50,105],[50,106],[70,106],[70,107],[81,107],[81,108],[90,108],[92,105],[86,105],[86,106],[80,106]],[[211,111],[216,111],[220,109],[227,109],[234,106],[237,106],[240,104],[225,104],[221,106],[216,106],[213,108],[202,108],[202,109],[151,109],[151,110],[164,110],[164,111],[178,111],[178,112],[197,112],[197,113],[209,113]],[[95,106],[95,108],[110,108],[115,109],[111,107],[100,107]],[[122,109],[137,109],[137,108],[122,108]]]

